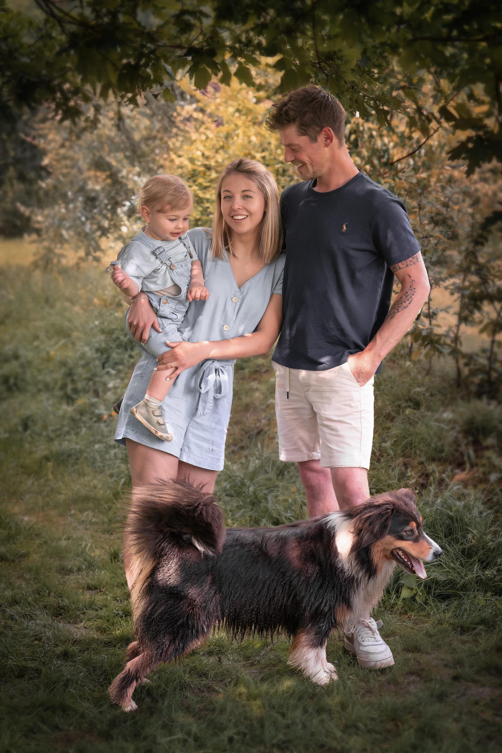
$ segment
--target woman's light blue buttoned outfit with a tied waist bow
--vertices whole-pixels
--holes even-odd
[[[209,298],[190,303],[178,328],[181,337],[196,343],[199,340],[229,340],[253,332],[265,313],[270,296],[282,292],[284,254],[239,288],[228,259],[211,258],[211,233],[203,227],[195,227],[188,231],[188,236],[202,263]],[[181,372],[163,401],[163,416],[173,435],[171,442],[165,442],[157,439],[130,413],[131,407],[144,398],[157,364],[154,355],[139,344],[138,347],[142,355],[123,398],[115,441],[125,445],[126,438],[132,439],[175,455],[190,465],[221,471],[232,406],[235,361],[202,361]],[[169,350],[167,346],[166,350]]]

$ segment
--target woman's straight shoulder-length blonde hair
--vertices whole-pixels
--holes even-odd
[[[260,227],[260,239],[258,242],[258,255],[264,264],[269,264],[281,252],[282,230],[281,217],[279,214],[278,191],[274,177],[266,167],[254,160],[246,160],[244,157],[234,160],[227,165],[221,173],[216,187],[216,207],[214,209],[214,221],[212,227],[211,255],[214,259],[223,259],[224,248],[229,254],[233,250],[233,230],[224,220],[221,212],[221,184],[228,175],[238,173],[245,175],[257,185],[265,200],[265,214]]]

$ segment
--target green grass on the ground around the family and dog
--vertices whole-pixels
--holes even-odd
[[[219,634],[158,669],[125,715],[106,688],[132,636],[120,551],[126,453],[111,404],[135,363],[104,273],[4,273],[2,725],[0,751],[485,751],[500,749],[502,537],[497,404],[458,392],[405,350],[376,384],[372,492],[412,486],[445,551],[427,581],[395,572],[378,617],[396,664],[365,672],[328,645],[339,681],[286,664],[288,642]],[[294,465],[277,459],[267,358],[236,367],[227,523],[305,515]]]

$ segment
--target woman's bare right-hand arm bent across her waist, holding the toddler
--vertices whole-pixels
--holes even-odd
[[[230,337],[229,340],[204,340],[200,343],[166,343],[169,350],[157,358],[157,370],[176,368],[178,373],[205,361],[227,361],[232,358],[249,358],[250,355],[264,355],[269,352],[282,325],[282,296],[272,294],[269,305],[260,319],[255,332]],[[172,364],[172,365],[171,365]]]

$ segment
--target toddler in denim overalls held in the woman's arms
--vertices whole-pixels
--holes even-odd
[[[168,350],[168,342],[182,340],[178,333],[188,303],[206,300],[202,264],[187,236],[193,197],[184,181],[175,175],[156,175],[141,188],[138,212],[145,221],[118,255],[111,279],[126,296],[147,297],[157,314],[162,332],[152,327],[143,347],[152,355]],[[132,302],[132,301],[131,301]],[[126,326],[127,319],[126,319]],[[156,437],[170,442],[162,402],[169,392],[175,371],[154,371],[147,394],[131,413]],[[166,377],[167,374],[167,377]]]

